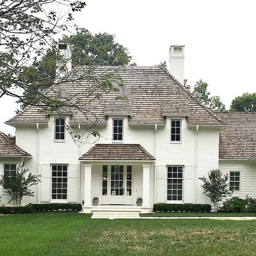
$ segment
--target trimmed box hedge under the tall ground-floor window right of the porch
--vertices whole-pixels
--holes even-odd
[[[153,212],[211,212],[208,204],[154,204]]]

